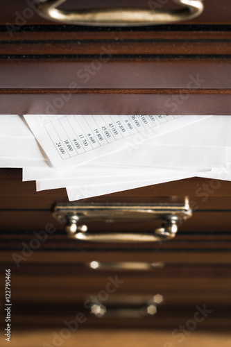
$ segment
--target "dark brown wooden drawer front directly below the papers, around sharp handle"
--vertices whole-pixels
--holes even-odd
[[[69,239],[65,223],[58,223],[51,213],[55,203],[67,201],[64,189],[35,192],[34,183],[22,183],[21,170],[2,169],[1,174],[1,261],[12,262],[12,251],[22,252],[22,242],[28,246],[33,232],[52,226],[55,232],[40,242],[26,262],[163,261],[230,264],[230,182],[218,181],[219,188],[210,196],[198,196],[198,187],[210,180],[187,180],[132,189],[85,199],[81,203],[180,203],[189,195],[193,217],[182,223],[175,239],[163,243],[107,244]],[[164,194],[169,196],[164,196]],[[182,195],[185,194],[185,195]],[[163,195],[163,196],[162,196]],[[208,194],[209,195],[209,194]],[[151,232],[157,222],[87,223],[90,231]],[[37,235],[37,234],[36,234]],[[36,237],[35,237],[36,238]],[[33,243],[33,242],[32,242]],[[8,251],[6,251],[8,250]],[[118,258],[119,257],[119,258]]]

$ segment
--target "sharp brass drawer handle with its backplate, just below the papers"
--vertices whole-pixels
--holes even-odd
[[[66,232],[69,237],[89,242],[162,242],[175,237],[178,223],[191,217],[188,203],[185,205],[83,205],[58,204],[53,217],[67,221]],[[161,228],[154,232],[87,232],[85,224],[80,221],[153,221],[162,219]]]

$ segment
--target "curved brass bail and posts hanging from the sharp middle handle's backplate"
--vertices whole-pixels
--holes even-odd
[[[178,231],[179,217],[171,215],[164,221],[161,228],[155,229],[153,233],[89,233],[87,226],[78,226],[78,217],[67,218],[66,231],[69,237],[89,242],[163,242],[175,237]]]

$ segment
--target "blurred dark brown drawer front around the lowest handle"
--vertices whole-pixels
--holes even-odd
[[[143,272],[119,269],[94,272],[85,264],[24,264],[14,271],[12,286],[13,323],[17,328],[25,324],[28,329],[36,325],[62,327],[63,321],[73,320],[81,312],[87,317],[84,328],[132,325],[132,328],[173,329],[203,308],[208,313],[200,328],[229,326],[230,266],[185,263],[166,264],[162,269]],[[157,313],[134,316],[139,306],[145,307],[155,295],[162,296],[156,305]],[[100,319],[92,316],[91,303],[97,301],[106,307],[108,314],[115,308],[123,312],[130,309],[130,316],[121,317],[118,313]]]

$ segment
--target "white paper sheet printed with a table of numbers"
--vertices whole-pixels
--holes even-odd
[[[131,142],[145,141],[206,116],[25,115],[54,167],[99,158]],[[139,139],[139,140],[138,140]]]

